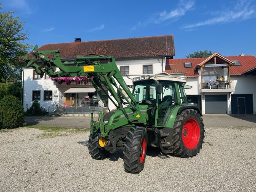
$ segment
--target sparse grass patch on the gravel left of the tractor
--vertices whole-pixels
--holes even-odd
[[[44,131],[44,133],[37,135],[38,138],[53,138],[58,136],[67,136],[72,133],[81,133],[81,132],[87,132],[88,129],[85,128],[70,128],[70,127],[49,127],[49,126],[28,126],[28,128],[34,128],[41,131]]]

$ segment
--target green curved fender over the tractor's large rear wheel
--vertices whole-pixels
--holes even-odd
[[[176,106],[176,107],[172,108],[164,126],[172,128],[174,125],[176,116],[179,115],[182,111],[184,111],[186,109],[194,109],[198,112],[198,114],[200,114],[200,116],[203,116],[200,111],[200,108],[197,105]]]

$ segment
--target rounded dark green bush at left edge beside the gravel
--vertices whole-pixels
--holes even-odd
[[[21,101],[12,95],[4,96],[0,101],[0,116],[2,116],[1,127],[4,129],[13,129],[22,126],[24,108]]]

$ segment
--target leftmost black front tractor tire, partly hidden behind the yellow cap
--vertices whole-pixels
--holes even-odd
[[[92,156],[93,159],[97,160],[102,160],[107,158],[110,153],[105,149],[100,147],[99,145],[99,136],[98,134],[92,134],[89,136],[89,141],[88,141],[88,149],[89,149],[89,154]]]

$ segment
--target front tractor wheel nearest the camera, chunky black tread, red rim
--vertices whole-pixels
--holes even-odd
[[[124,170],[140,173],[145,164],[147,151],[147,130],[145,127],[131,127],[124,144]]]

